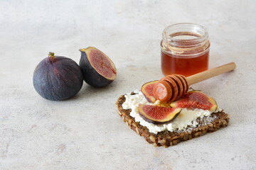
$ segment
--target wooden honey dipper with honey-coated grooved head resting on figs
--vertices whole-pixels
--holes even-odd
[[[184,77],[181,74],[171,74],[160,79],[153,88],[153,94],[156,99],[164,102],[172,102],[181,98],[192,84],[196,84],[205,79],[218,76],[225,72],[235,69],[235,62],[230,62],[214,69],[208,69],[190,77]]]

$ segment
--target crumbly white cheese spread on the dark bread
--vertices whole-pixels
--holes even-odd
[[[140,115],[138,111],[139,104],[148,104],[148,105],[157,105],[159,101],[156,101],[155,103],[149,103],[146,101],[146,98],[142,94],[141,91],[134,91],[134,95],[131,94],[125,94],[125,102],[122,104],[122,107],[124,109],[131,108],[132,111],[130,112],[130,116],[132,116],[136,122],[138,122],[140,125],[145,126],[149,129],[149,132],[152,132],[154,134],[157,134],[158,132],[169,130],[170,132],[174,132],[176,130],[184,130],[188,126],[191,128],[194,128],[198,125],[198,122],[196,121],[197,118],[203,118],[204,116],[208,117],[208,120],[213,119],[210,117],[211,111],[205,111],[202,109],[194,108],[188,109],[188,108],[182,108],[181,113],[178,114],[178,117],[174,119],[171,123],[163,124],[163,125],[156,125],[154,123],[148,123],[146,120],[144,120]],[[215,112],[221,111],[219,108]]]

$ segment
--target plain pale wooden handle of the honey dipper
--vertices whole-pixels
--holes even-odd
[[[190,77],[186,77],[186,80],[189,85],[196,84],[200,81],[203,81],[205,79],[209,79],[211,77],[218,76],[220,74],[223,74],[225,72],[230,72],[233,69],[235,69],[236,65],[235,62],[230,62],[228,64],[221,65],[219,67],[216,67],[214,69],[208,69],[204,72],[200,72],[198,74],[193,74]]]

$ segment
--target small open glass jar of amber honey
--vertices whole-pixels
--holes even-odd
[[[208,69],[210,41],[206,28],[195,23],[177,23],[164,29],[161,40],[161,70],[164,75],[186,77]]]

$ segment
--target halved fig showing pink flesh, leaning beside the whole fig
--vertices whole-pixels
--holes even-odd
[[[117,77],[117,69],[112,60],[95,47],[80,49],[80,68],[87,84],[103,87],[111,84]]]

